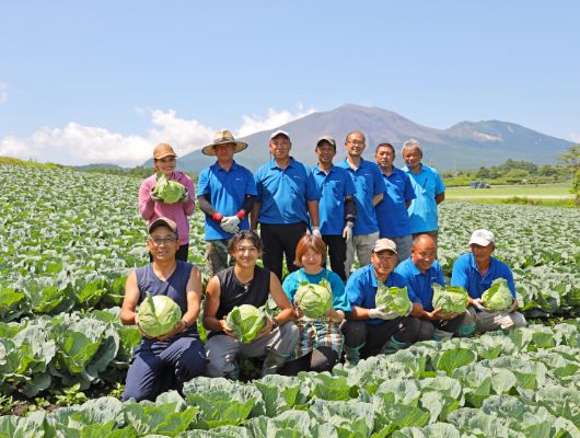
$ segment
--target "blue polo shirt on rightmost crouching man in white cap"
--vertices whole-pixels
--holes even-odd
[[[453,272],[451,274],[451,286],[461,286],[467,290],[469,297],[482,298],[482,295],[491,287],[491,283],[496,278],[506,278],[511,295],[515,298],[515,285],[513,284],[513,275],[511,269],[504,263],[491,257],[489,269],[486,275],[482,277],[475,258],[472,253],[460,255],[453,264]]]

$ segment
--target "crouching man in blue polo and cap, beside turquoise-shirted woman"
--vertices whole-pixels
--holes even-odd
[[[395,242],[379,239],[371,253],[371,264],[352,273],[345,287],[351,312],[343,323],[345,354],[349,364],[356,365],[362,357],[378,353],[394,353],[420,338],[421,322],[415,316],[399,316],[396,312],[376,308],[374,298],[379,284],[387,287],[407,287],[409,298],[413,291],[405,278],[394,273],[397,263]]]

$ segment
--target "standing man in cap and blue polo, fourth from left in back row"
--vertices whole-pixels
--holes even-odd
[[[328,246],[330,268],[346,281],[347,241],[352,239],[352,227],[357,218],[352,197],[355,186],[347,171],[333,164],[336,155],[336,141],[333,137],[318,138],[315,151],[318,163],[312,173],[321,192],[318,211],[322,239]]]

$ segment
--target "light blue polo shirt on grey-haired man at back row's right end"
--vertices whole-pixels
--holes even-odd
[[[408,209],[410,232],[419,233],[439,229],[436,195],[445,192],[443,180],[434,170],[421,164],[421,170],[416,175],[407,166],[403,168],[413,183],[416,198]]]

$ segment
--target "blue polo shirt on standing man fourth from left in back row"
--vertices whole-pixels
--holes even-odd
[[[326,174],[316,164],[312,169],[316,187],[321,193],[318,215],[323,235],[341,235],[345,229],[345,196],[355,194],[355,185],[343,168],[333,165]]]

